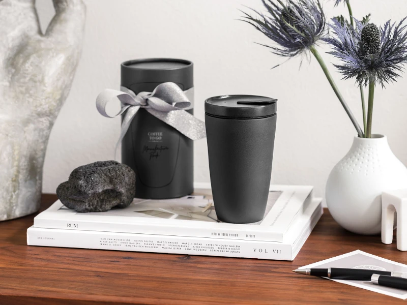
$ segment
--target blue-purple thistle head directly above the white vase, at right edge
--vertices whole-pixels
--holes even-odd
[[[333,51],[328,52],[340,59],[334,65],[344,79],[356,78],[358,84],[396,81],[407,63],[407,25],[404,18],[398,24],[386,22],[380,29],[373,23],[364,25],[355,19],[355,28],[342,25],[332,19],[335,37],[323,38]]]

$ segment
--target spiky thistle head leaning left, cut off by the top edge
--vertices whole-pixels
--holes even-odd
[[[325,34],[325,15],[319,0],[261,0],[267,13],[252,10],[244,21],[276,45],[264,45],[280,56],[292,57],[307,50]]]

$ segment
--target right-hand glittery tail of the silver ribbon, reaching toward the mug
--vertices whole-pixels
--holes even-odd
[[[150,114],[162,120],[167,125],[175,128],[191,140],[206,138],[205,122],[196,118],[185,110],[162,112],[153,108],[145,108]]]

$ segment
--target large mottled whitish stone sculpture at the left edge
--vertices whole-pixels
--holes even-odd
[[[85,5],[53,4],[42,34],[35,0],[0,0],[0,220],[39,209],[48,137],[80,57]]]

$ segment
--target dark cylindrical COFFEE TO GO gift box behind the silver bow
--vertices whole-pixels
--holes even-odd
[[[189,60],[130,60],[121,70],[121,85],[135,94],[153,92],[163,82],[176,83],[192,103],[186,111],[193,114],[193,64]],[[136,173],[137,198],[177,198],[193,192],[193,141],[142,108],[123,138],[122,162]]]

